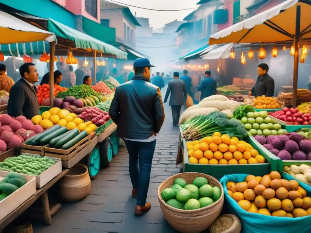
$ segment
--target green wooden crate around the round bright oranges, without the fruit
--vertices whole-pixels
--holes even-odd
[[[181,129],[180,129],[181,130]],[[182,134],[182,131],[181,131]],[[182,138],[181,146],[183,147],[183,171],[184,172],[201,172],[210,176],[215,177],[217,180],[220,180],[223,176],[229,174],[253,174],[254,176],[264,176],[269,174],[271,171],[278,170],[278,160],[276,156],[269,156],[267,153],[262,150],[262,147],[258,147],[256,143],[252,142],[249,137],[245,138],[245,141],[251,144],[258,152],[263,155],[267,163],[258,163],[258,164],[193,164],[189,163],[188,150],[186,147],[186,140]],[[263,148],[265,149],[265,148]]]

